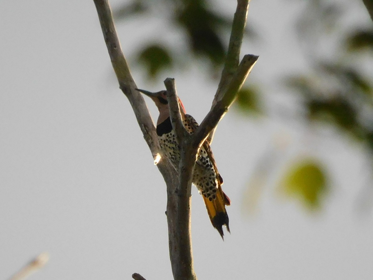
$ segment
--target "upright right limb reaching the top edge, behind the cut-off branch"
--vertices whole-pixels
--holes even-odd
[[[220,77],[219,86],[217,87],[211,108],[220,100],[224,94],[225,87],[237,71],[239,63],[239,53],[241,51],[242,40],[244,38],[245,25],[247,19],[247,10],[250,0],[237,0],[237,8],[233,17],[231,38],[229,38],[228,53],[225,59],[224,68]],[[216,126],[211,131],[207,141],[212,142]]]

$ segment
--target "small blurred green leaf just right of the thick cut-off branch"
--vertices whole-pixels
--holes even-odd
[[[235,103],[244,113],[260,113],[259,96],[260,92],[257,86],[245,86],[238,91]]]

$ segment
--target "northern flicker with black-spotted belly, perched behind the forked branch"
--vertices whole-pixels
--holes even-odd
[[[166,157],[177,171],[180,161],[180,146],[176,133],[172,128],[166,90],[156,93],[140,89],[137,90],[150,97],[154,103],[156,103],[159,110],[157,135],[162,152],[161,156],[162,158]],[[179,104],[181,105],[181,116],[185,128],[192,134],[197,129],[198,124],[191,115],[185,113],[184,105],[182,105],[180,99]],[[230,205],[231,201],[222,191],[221,185],[223,184],[223,179],[217,171],[215,160],[207,141],[203,143],[198,153],[192,182],[203,197],[212,225],[219,231],[220,236],[223,238],[223,225],[225,225],[228,232],[230,232],[229,218],[225,210],[225,205]]]

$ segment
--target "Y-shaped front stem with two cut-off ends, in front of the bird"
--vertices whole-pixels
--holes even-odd
[[[176,229],[178,229],[175,231],[169,227],[170,258],[174,258],[171,262],[178,265],[178,267],[172,267],[175,279],[196,279],[193,271],[190,236],[190,205],[193,170],[198,150],[209,133],[216,127],[222,116],[228,111],[237,91],[245,82],[247,75],[250,73],[257,59],[258,56],[254,55],[244,56],[226,88],[222,100],[216,103],[198,127],[197,131],[191,135],[184,133],[185,129],[181,121],[175,81],[171,78],[167,78],[164,81],[167,88],[170,115],[172,116],[173,125],[178,133],[181,156],[178,169],[179,184],[175,190],[177,196],[175,197],[176,201],[173,201],[175,204],[172,205],[172,208],[170,206],[171,212],[168,212],[169,204],[167,203],[167,218],[169,218],[169,214],[175,215]],[[184,233],[188,233],[188,236]],[[186,275],[187,278],[184,278]]]

